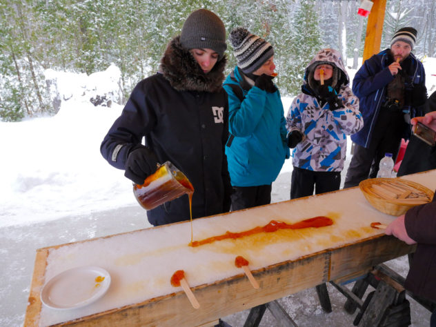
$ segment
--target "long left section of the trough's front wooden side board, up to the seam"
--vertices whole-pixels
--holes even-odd
[[[261,292],[252,288],[244,274],[197,286],[192,291],[201,304],[199,310],[179,292],[54,326],[197,326],[321,284],[327,278],[329,258],[322,251],[253,271]]]

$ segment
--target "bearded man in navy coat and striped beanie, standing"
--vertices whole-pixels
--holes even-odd
[[[416,37],[415,28],[400,28],[390,48],[366,60],[353,79],[364,128],[351,135],[355,150],[344,188],[376,177],[385,153],[395,159],[402,138],[410,136],[410,118],[424,115],[424,66],[411,52]]]

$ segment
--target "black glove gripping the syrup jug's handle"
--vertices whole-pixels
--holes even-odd
[[[124,176],[142,185],[143,181],[157,170],[157,164],[155,152],[145,146],[135,148],[127,157]]]

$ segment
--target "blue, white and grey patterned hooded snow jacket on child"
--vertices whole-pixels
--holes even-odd
[[[310,88],[316,66],[328,63],[335,67],[333,77],[337,97],[343,107],[330,110]],[[347,139],[363,126],[359,100],[349,86],[349,77],[337,50],[323,49],[310,61],[304,74],[301,92],[295,97],[286,117],[289,132],[299,130],[304,135],[293,152],[293,166],[320,172],[340,172],[344,169]]]

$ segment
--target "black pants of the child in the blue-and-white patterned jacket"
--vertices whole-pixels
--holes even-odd
[[[341,172],[314,172],[294,167],[290,180],[290,199],[339,190]]]

